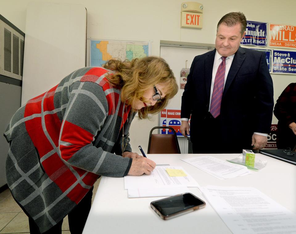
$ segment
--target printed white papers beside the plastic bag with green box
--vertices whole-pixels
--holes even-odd
[[[229,179],[252,174],[245,166],[233,164],[212,156],[199,156],[181,160],[219,179]]]

